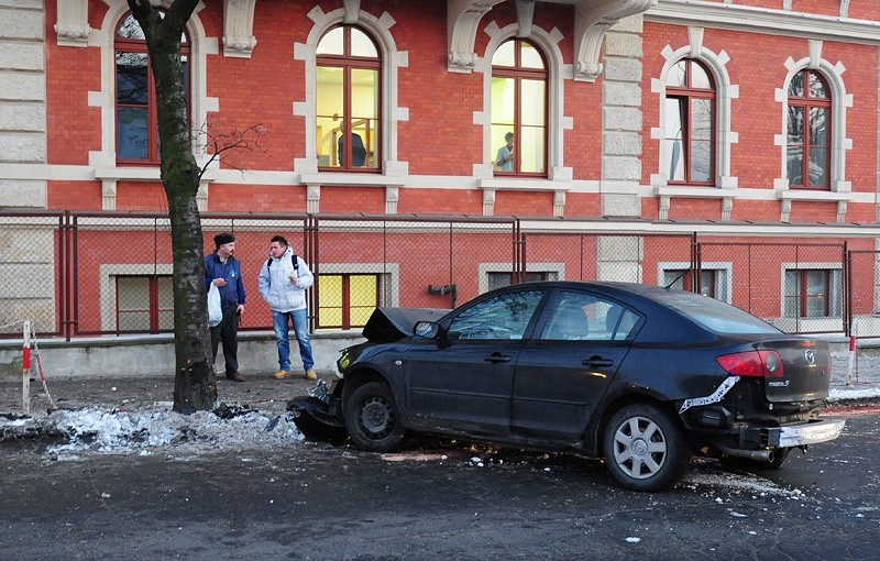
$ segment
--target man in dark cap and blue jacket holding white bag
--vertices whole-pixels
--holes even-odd
[[[235,237],[221,233],[213,237],[217,249],[205,256],[205,289],[213,284],[220,290],[223,319],[211,328],[211,352],[217,360],[217,348],[223,342],[223,359],[227,378],[244,382],[239,374],[239,317],[244,312],[244,283],[241,279],[241,262],[235,258]]]

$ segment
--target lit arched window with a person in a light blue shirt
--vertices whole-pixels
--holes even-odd
[[[491,135],[496,174],[547,175],[547,63],[526,40],[492,57]]]

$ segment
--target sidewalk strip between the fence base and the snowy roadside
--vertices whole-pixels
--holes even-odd
[[[847,384],[848,352],[832,354],[831,407],[880,404],[880,349],[860,349],[850,384]],[[336,373],[321,372],[327,383]],[[305,395],[315,382],[304,377],[275,380],[271,373],[251,374],[245,382],[217,381],[217,403],[246,405],[252,409],[279,415],[287,400]],[[170,410],[174,400],[174,377],[88,377],[54,380],[46,373],[46,386],[59,409],[98,408],[106,410],[148,411]],[[51,403],[37,375],[31,381],[31,415],[43,416]],[[22,413],[21,377],[0,378],[0,414]]]

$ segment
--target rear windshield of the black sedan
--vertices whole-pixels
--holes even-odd
[[[666,304],[710,331],[719,334],[735,333],[781,333],[779,329],[751,314],[729,304],[694,293],[670,290],[657,295],[657,300]]]

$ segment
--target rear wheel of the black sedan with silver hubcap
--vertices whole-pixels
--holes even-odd
[[[635,491],[662,491],[684,475],[691,451],[674,419],[658,407],[628,405],[605,426],[605,463],[614,480]]]

